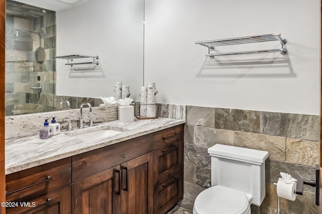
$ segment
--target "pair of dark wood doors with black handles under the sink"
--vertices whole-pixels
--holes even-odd
[[[72,183],[72,213],[153,213],[153,152]]]

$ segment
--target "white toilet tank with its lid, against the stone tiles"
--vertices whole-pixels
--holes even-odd
[[[245,192],[250,203],[260,206],[265,192],[267,151],[215,144],[211,156],[211,185],[221,185]]]

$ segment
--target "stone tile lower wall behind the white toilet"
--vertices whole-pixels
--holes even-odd
[[[252,110],[187,106],[184,155],[184,199],[192,210],[199,192],[211,186],[207,149],[216,143],[269,152],[266,197],[252,213],[277,213],[276,186],[280,172],[315,179],[319,153],[319,116]],[[233,201],[232,201],[233,202]],[[317,213],[314,188],[304,186],[295,201],[281,198],[280,213]]]

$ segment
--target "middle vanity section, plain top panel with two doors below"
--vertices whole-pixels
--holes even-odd
[[[74,156],[72,213],[153,213],[153,153],[148,134]]]

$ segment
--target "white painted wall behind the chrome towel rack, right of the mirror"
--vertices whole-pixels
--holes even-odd
[[[319,114],[319,0],[145,1],[144,84],[157,101]],[[204,57],[196,41],[281,33],[279,53]],[[267,46],[268,45],[268,46]],[[276,49],[276,43],[234,47]]]

